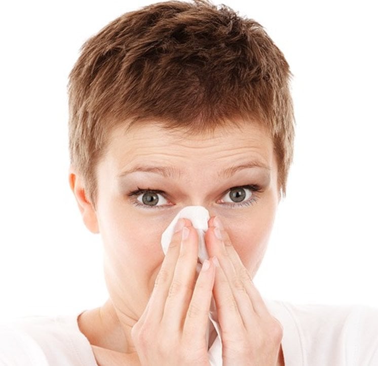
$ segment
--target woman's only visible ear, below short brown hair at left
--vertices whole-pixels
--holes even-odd
[[[73,195],[78,202],[79,210],[83,216],[85,225],[93,234],[98,234],[99,230],[96,211],[94,210],[92,203],[87,200],[83,179],[72,169],[72,167],[69,168],[68,181]]]

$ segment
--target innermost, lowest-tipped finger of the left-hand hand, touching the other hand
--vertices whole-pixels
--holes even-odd
[[[215,266],[211,260],[206,259],[198,275],[182,328],[183,337],[187,340],[206,337],[214,279]]]

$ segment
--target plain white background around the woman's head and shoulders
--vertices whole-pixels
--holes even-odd
[[[89,36],[149,3],[2,3],[0,319],[106,299],[101,239],[68,185],[67,76]],[[296,303],[378,307],[373,2],[225,4],[266,27],[294,74],[294,163],[257,288]]]

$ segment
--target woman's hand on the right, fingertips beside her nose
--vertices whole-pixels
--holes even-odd
[[[219,261],[213,294],[222,337],[223,365],[277,366],[282,360],[283,328],[255,288],[228,234],[209,220],[205,241]],[[216,231],[221,239],[217,238]],[[219,236],[219,235],[218,235]]]

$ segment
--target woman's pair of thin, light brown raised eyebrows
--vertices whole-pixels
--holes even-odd
[[[260,161],[253,160],[253,161],[247,161],[240,165],[233,165],[229,168],[221,170],[218,172],[218,177],[222,179],[230,178],[239,170],[252,169],[252,168],[262,168],[268,171],[272,170],[271,167],[267,166],[266,164],[263,164]],[[156,174],[163,175],[166,178],[177,178],[177,177],[180,177],[182,174],[181,170],[176,169],[172,166],[136,165],[128,170],[123,171],[121,174],[118,175],[118,177],[122,178],[125,175],[131,174],[137,171],[142,171],[142,172],[147,172],[147,173],[156,173]]]

